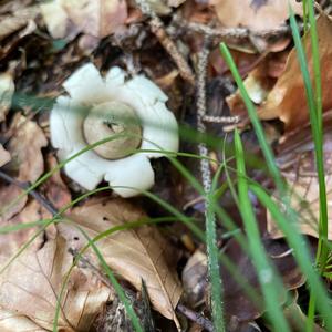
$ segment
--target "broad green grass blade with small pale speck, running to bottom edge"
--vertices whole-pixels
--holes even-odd
[[[238,170],[239,208],[248,237],[249,252],[256,267],[267,305],[267,315],[269,317],[274,331],[287,332],[290,331],[290,329],[283,317],[282,310],[280,309],[280,294],[282,294],[284,290],[279,278],[277,278],[274,269],[268,261],[264,247],[260,239],[257,220],[249,198],[249,185],[246,179],[245,155],[238,131],[235,132],[235,148]]]

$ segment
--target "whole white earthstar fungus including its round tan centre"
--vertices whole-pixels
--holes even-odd
[[[120,68],[102,77],[91,63],[63,86],[69,96],[58,97],[50,117],[52,145],[61,160],[86,149],[65,164],[66,175],[87,190],[105,179],[123,197],[149,189],[149,158],[178,151],[177,122],[162,90],[142,75],[126,80]]]

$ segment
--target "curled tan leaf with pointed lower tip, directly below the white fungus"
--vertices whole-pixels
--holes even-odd
[[[93,238],[114,226],[135,221],[145,215],[125,200],[104,199],[77,207],[69,217],[84,227]],[[85,245],[85,240],[74,228],[65,225],[59,227],[62,235],[69,241],[72,240],[72,246],[76,245],[80,249]],[[169,245],[155,227],[122,230],[107,236],[97,245],[107,264],[137,290],[141,290],[144,279],[154,308],[177,323],[174,310],[181,294],[181,287],[175,266],[170,267],[165,258]]]

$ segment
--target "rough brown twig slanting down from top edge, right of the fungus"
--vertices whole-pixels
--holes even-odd
[[[152,32],[156,35],[160,44],[165,48],[173,61],[176,63],[181,77],[189,82],[191,85],[194,85],[195,75],[189,64],[185,60],[184,55],[178,51],[175,42],[167,34],[162,20],[152,10],[151,6],[146,0],[136,0],[136,3],[141,11],[149,18],[148,24],[151,27]]]

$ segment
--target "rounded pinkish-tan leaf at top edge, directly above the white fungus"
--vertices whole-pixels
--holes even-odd
[[[125,0],[59,0],[69,18],[84,33],[104,38],[127,19]]]

